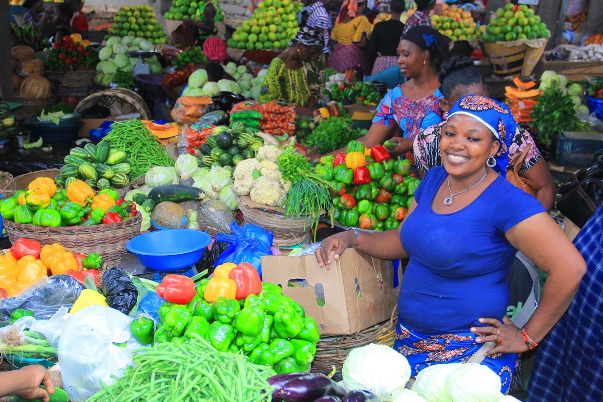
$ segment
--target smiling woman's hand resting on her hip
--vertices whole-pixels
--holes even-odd
[[[523,341],[522,332],[505,315],[502,319],[504,324],[496,318],[480,318],[479,322],[488,324],[490,327],[472,327],[471,331],[477,334],[483,334],[475,338],[478,344],[485,342],[494,342],[496,347],[488,350],[485,355],[492,356],[496,353],[521,353],[528,350],[528,345]]]

